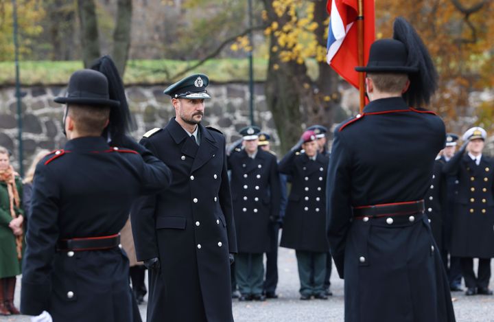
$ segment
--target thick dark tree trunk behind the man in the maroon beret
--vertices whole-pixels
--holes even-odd
[[[287,21],[286,14],[277,16],[272,8],[273,0],[263,2],[268,20],[277,21],[281,29]],[[316,37],[318,43],[325,46],[326,1],[314,0],[314,3],[314,21],[318,23]],[[270,47],[277,45],[277,37],[273,33],[270,43]],[[266,101],[281,140],[281,152],[289,150],[308,126],[320,124],[331,128],[333,124],[333,110],[339,107],[338,75],[326,62],[319,62],[318,67],[318,79],[313,81],[307,74],[305,64],[281,62],[278,52],[270,50]]]

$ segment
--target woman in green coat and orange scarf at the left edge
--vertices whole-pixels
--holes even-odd
[[[0,146],[0,315],[19,314],[14,306],[16,275],[23,253],[22,182]]]

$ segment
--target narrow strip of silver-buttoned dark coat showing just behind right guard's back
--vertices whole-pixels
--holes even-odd
[[[439,249],[443,249],[443,216],[446,205],[446,176],[443,174],[443,159],[434,161],[432,180],[425,194],[425,214],[429,218],[432,235]]]

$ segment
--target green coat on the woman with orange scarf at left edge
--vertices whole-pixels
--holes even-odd
[[[22,198],[21,178],[16,177],[17,192]],[[22,200],[21,200],[22,205]],[[16,214],[24,214],[23,209],[17,208]],[[10,216],[10,205],[7,185],[0,183],[0,278],[12,277],[21,274],[21,261],[17,260],[16,242],[12,229],[8,227],[12,216]]]

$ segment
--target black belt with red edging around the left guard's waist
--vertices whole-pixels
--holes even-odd
[[[101,237],[71,238],[59,240],[58,251],[100,251],[120,245],[120,233]]]

